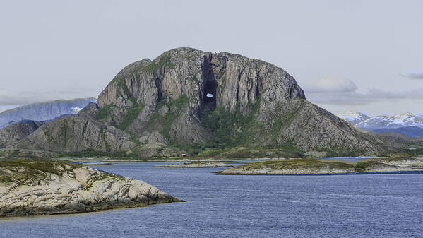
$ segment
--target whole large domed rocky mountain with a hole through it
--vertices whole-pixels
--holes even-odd
[[[189,146],[355,150],[383,142],[307,101],[283,69],[239,54],[178,48],[122,69],[78,117],[9,146],[172,155]]]

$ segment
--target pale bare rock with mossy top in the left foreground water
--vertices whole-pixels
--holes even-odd
[[[142,181],[59,162],[1,162],[0,217],[85,213],[179,201]]]

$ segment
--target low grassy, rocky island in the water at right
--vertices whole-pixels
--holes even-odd
[[[380,158],[349,163],[330,160],[269,160],[225,169],[226,175],[353,174],[362,172],[404,172],[423,169],[423,158]]]

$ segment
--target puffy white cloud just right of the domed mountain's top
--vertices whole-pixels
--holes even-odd
[[[339,76],[326,76],[315,81],[303,83],[306,93],[340,93],[352,92],[357,89],[357,85],[349,78]]]

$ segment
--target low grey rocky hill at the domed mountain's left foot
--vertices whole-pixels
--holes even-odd
[[[135,146],[128,133],[95,121],[95,110],[97,105],[92,103],[77,117],[65,117],[42,125],[15,147],[55,152],[82,152],[90,149],[117,152],[128,151]]]

